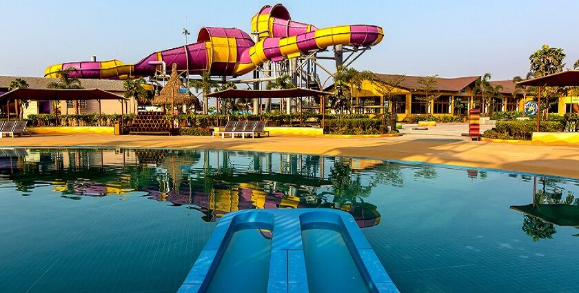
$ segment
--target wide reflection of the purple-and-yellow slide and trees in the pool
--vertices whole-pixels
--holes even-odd
[[[0,154],[0,172],[23,195],[45,185],[72,200],[140,192],[207,222],[254,208],[334,208],[361,228],[380,223],[365,201],[372,188],[403,184],[400,167],[385,161],[222,150],[13,150]]]

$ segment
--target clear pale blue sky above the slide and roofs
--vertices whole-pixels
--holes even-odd
[[[0,16],[0,74],[37,76],[53,63],[97,59],[139,61],[190,42],[202,26],[250,31],[256,0],[7,1]],[[382,26],[382,43],[354,67],[380,73],[493,79],[525,75],[529,54],[546,43],[564,48],[567,67],[579,59],[579,1],[292,0],[292,19],[318,28]]]

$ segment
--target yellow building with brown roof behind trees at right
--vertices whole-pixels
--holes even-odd
[[[418,82],[418,76],[400,76],[396,74],[377,74],[378,79],[383,83],[375,81],[363,81],[361,90],[353,90],[353,108],[355,112],[365,114],[377,114],[386,109],[393,108],[398,115],[398,121],[413,121],[417,117],[427,114],[435,117],[467,115],[467,110],[480,108],[481,112],[486,112],[490,105],[494,105],[494,112],[500,111],[522,111],[525,102],[534,100],[535,97],[523,94],[522,90],[516,90],[512,80],[491,81],[491,85],[502,85],[500,94],[502,98],[494,98],[494,103],[485,105],[482,109],[482,97],[480,94],[473,94],[475,81],[480,78],[474,77],[436,77],[436,90],[434,93],[439,96],[429,103],[425,95],[427,94]],[[392,83],[394,79],[401,79],[395,88],[386,90],[384,83]],[[332,86],[325,90],[331,90]],[[387,93],[390,94],[392,105],[389,105]],[[551,105],[549,113],[565,114],[567,112],[579,112],[578,97],[562,97],[558,103]]]

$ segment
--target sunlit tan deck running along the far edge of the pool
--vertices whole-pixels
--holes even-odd
[[[0,139],[0,147],[212,148],[358,156],[497,168],[579,178],[579,146],[517,145],[457,137],[405,135],[389,138],[114,136],[74,134]]]

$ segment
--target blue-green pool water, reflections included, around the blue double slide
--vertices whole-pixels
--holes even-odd
[[[216,221],[255,208],[349,212],[401,292],[579,292],[578,191],[576,179],[349,157],[5,149],[0,292],[175,292]],[[240,234],[254,238],[267,246],[267,233]],[[260,247],[229,253],[258,263]]]

